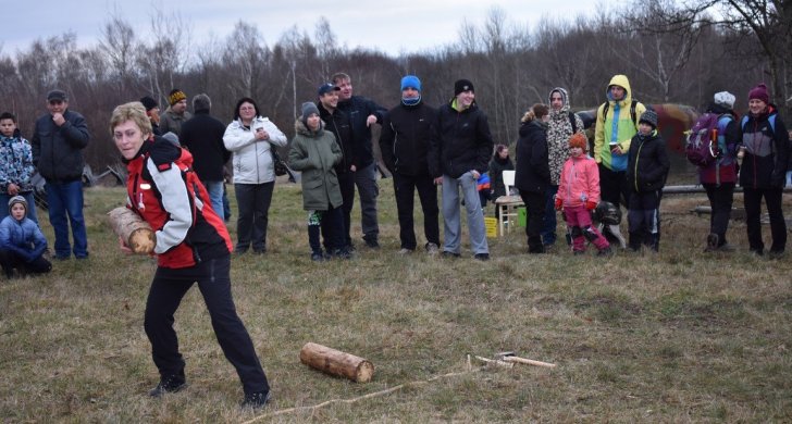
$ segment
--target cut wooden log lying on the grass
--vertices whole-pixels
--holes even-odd
[[[300,349],[300,362],[357,383],[368,383],[374,375],[374,365],[367,359],[310,341]]]

